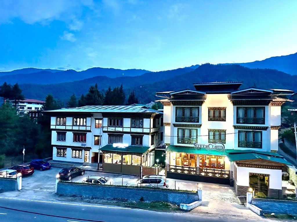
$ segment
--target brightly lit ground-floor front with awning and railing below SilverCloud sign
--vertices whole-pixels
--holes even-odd
[[[230,184],[230,162],[225,147],[169,145],[166,152],[168,178]]]

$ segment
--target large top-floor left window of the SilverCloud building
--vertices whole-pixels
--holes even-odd
[[[199,107],[176,107],[175,121],[183,123],[198,123]]]

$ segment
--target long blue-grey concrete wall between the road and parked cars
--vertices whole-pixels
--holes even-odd
[[[165,201],[173,202],[176,204],[189,204],[198,200],[197,193],[192,192],[88,184],[71,184],[68,182],[59,182],[57,184],[57,194],[77,195],[84,197],[101,197],[107,199],[119,198],[127,199],[129,201],[139,201],[139,199],[143,197],[144,201]]]

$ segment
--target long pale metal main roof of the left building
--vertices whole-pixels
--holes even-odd
[[[133,113],[158,113],[157,110],[151,109],[145,105],[132,104],[129,106],[83,106],[75,108],[62,108],[59,110],[49,110],[45,112],[133,112]]]

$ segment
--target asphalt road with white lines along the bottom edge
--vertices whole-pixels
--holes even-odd
[[[252,212],[251,212],[252,213]],[[0,221],[5,222],[139,222],[139,221],[254,221],[247,218],[219,218],[191,213],[162,213],[149,210],[87,205],[58,201],[0,198]]]

